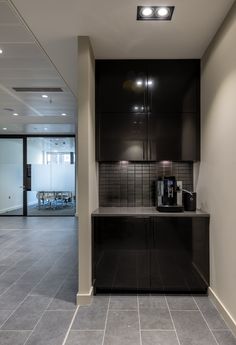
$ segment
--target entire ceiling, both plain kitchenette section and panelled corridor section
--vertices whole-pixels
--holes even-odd
[[[0,0],[0,133],[74,133],[77,36],[91,38],[96,58],[201,58],[233,3]],[[175,6],[173,19],[137,22],[138,5]],[[45,100],[41,94],[12,89],[32,86],[61,87],[63,93],[50,93]]]

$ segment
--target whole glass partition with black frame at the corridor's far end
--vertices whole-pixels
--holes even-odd
[[[0,181],[0,193],[4,195],[1,215],[75,214],[74,137],[0,139],[3,175],[8,182],[4,178]]]

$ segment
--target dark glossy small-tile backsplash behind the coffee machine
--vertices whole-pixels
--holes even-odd
[[[154,206],[155,181],[159,176],[176,176],[183,181],[183,188],[193,190],[191,162],[99,163],[99,205]]]

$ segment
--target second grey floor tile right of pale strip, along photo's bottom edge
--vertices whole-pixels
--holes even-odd
[[[104,345],[141,345],[140,332],[105,334]]]

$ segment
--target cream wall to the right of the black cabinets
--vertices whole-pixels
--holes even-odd
[[[211,215],[210,286],[235,322],[236,4],[203,57],[201,84],[198,206]]]

